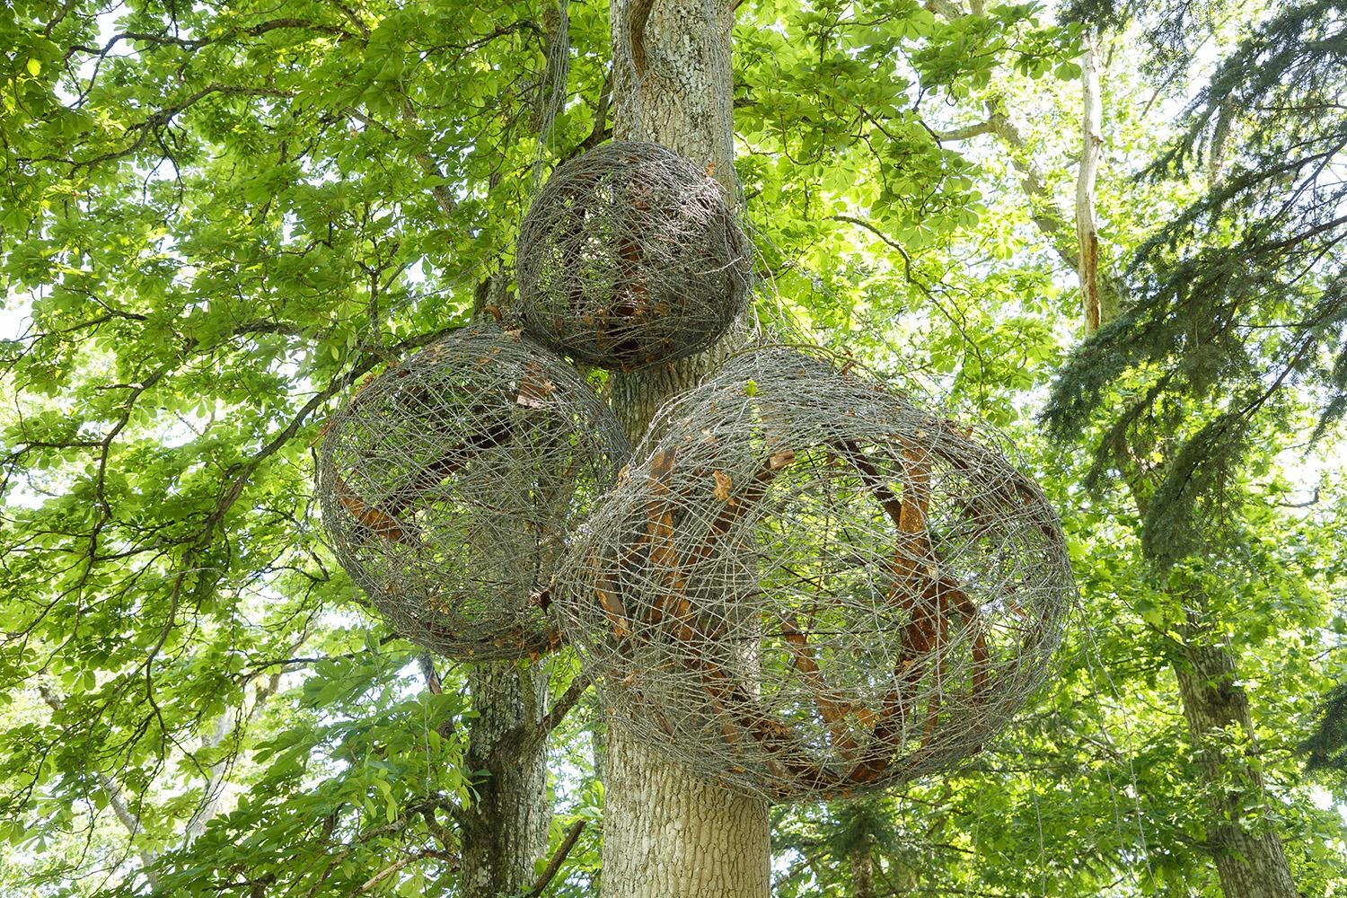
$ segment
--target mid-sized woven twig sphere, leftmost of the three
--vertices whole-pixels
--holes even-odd
[[[337,560],[395,630],[455,658],[519,658],[558,644],[535,596],[626,455],[564,361],[471,326],[333,416],[318,494]]]

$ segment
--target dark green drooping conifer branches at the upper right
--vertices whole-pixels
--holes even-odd
[[[1142,175],[1207,190],[1141,245],[1130,307],[1053,385],[1049,431],[1103,425],[1094,481],[1113,469],[1142,490],[1160,569],[1197,551],[1197,522],[1215,520],[1199,509],[1219,506],[1259,413],[1312,394],[1323,434],[1347,412],[1344,62],[1344,7],[1315,0],[1277,11],[1218,66]]]

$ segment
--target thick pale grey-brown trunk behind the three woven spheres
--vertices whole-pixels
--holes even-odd
[[[734,203],[730,3],[613,0],[612,20],[614,137],[660,143],[706,166]],[[614,374],[613,407],[633,442],[715,353]],[[617,726],[603,794],[605,898],[766,898],[764,801],[694,777]]]

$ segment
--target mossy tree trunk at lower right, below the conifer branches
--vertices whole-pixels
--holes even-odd
[[[1219,790],[1211,798],[1207,841],[1222,891],[1226,898],[1296,898],[1281,839],[1265,823],[1250,825],[1246,797],[1257,796],[1254,806],[1262,810],[1266,796],[1254,762],[1249,696],[1238,683],[1234,656],[1199,630],[1189,634],[1175,675],[1206,785]],[[1239,734],[1234,743],[1231,730]]]

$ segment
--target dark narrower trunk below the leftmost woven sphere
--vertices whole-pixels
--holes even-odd
[[[475,785],[477,801],[462,815],[465,898],[513,895],[533,883],[535,862],[547,851],[546,739],[539,722],[547,680],[539,665],[478,664],[467,675],[473,720],[467,765],[489,775]]]

